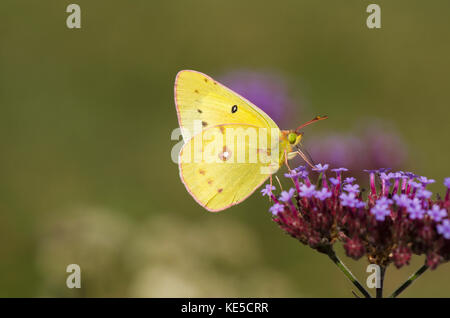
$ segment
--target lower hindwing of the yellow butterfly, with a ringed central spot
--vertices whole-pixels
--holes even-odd
[[[233,138],[234,143],[230,143],[230,128],[239,137],[256,129],[240,124],[210,127],[190,139],[180,152],[181,179],[194,199],[209,211],[221,211],[245,200],[279,168],[278,154],[270,158],[269,147],[261,139]],[[221,138],[221,142],[211,136]],[[270,136],[265,138],[277,151],[278,145],[270,144]],[[252,156],[255,153],[256,162]]]

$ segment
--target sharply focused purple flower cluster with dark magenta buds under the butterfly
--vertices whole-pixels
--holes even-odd
[[[289,235],[320,251],[329,251],[337,241],[344,243],[347,256],[381,266],[409,264],[412,254],[425,255],[426,265],[436,268],[450,260],[450,178],[444,180],[445,198],[426,187],[435,180],[410,172],[389,169],[366,170],[367,194],[355,178],[343,178],[345,168],[318,164],[313,183],[308,170],[300,166],[285,174],[293,187],[276,196],[275,187],[261,192],[274,202],[269,211]]]

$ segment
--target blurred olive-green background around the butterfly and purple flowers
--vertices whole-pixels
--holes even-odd
[[[379,30],[361,0],[77,0],[80,30],[66,27],[70,3],[0,3],[0,296],[352,297],[258,194],[219,214],[188,195],[170,159],[181,69],[289,76],[330,117],[308,135],[389,121],[408,145],[405,170],[443,191],[449,1],[376,1]],[[365,260],[344,261],[366,280]],[[422,261],[391,266],[386,292]],[[79,290],[65,286],[71,263]],[[449,296],[449,274],[444,264],[403,295]]]

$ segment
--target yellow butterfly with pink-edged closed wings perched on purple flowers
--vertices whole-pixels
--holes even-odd
[[[295,147],[303,135],[299,130],[327,116],[295,130],[280,130],[250,101],[197,71],[180,71],[174,90],[185,141],[178,161],[180,177],[208,211],[244,201],[297,154],[311,165]]]

